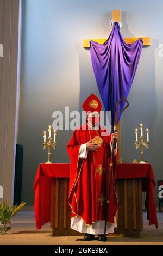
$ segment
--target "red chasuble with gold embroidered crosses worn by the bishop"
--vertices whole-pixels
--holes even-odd
[[[84,126],[87,128],[87,125]],[[71,160],[68,203],[72,209],[71,217],[80,216],[85,224],[89,225],[96,221],[105,220],[106,193],[108,192],[110,171],[111,135],[107,132],[107,136],[101,136],[100,130],[88,130],[83,127],[73,132],[71,140],[67,145],[68,155]],[[98,151],[88,151],[86,159],[79,158],[80,146],[90,141],[90,139],[92,139],[92,142],[99,144]],[[107,204],[109,205],[108,215],[106,216],[108,223],[114,223],[114,217],[118,209],[114,187],[116,158],[114,157],[110,200],[109,204]]]

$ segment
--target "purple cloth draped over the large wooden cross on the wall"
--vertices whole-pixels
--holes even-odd
[[[109,38],[104,44],[90,40],[91,59],[99,93],[106,111],[111,111],[111,125],[114,125],[116,102],[129,94],[142,50],[142,38],[126,44],[118,23],[115,22]],[[120,112],[125,102],[119,107]]]

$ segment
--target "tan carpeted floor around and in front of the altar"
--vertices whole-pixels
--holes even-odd
[[[84,242],[82,236],[52,236],[49,224],[36,230],[34,211],[21,211],[12,218],[11,234],[0,235],[0,245],[104,245],[97,240]],[[159,228],[148,227],[143,213],[143,230],[139,238],[108,237],[106,245],[163,245],[163,212],[158,213]]]

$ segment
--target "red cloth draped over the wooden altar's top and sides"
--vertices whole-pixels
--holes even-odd
[[[52,178],[69,178],[70,163],[40,164],[35,182],[35,220],[36,228],[51,220],[51,182]],[[151,164],[117,164],[116,179],[142,178],[142,191],[146,191],[145,206],[149,225],[158,227],[154,198],[155,179]]]

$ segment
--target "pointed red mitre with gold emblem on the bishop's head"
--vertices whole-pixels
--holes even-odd
[[[95,112],[98,113],[101,111],[102,105],[100,100],[95,94],[91,94],[87,99],[83,102],[82,105],[85,112]]]

